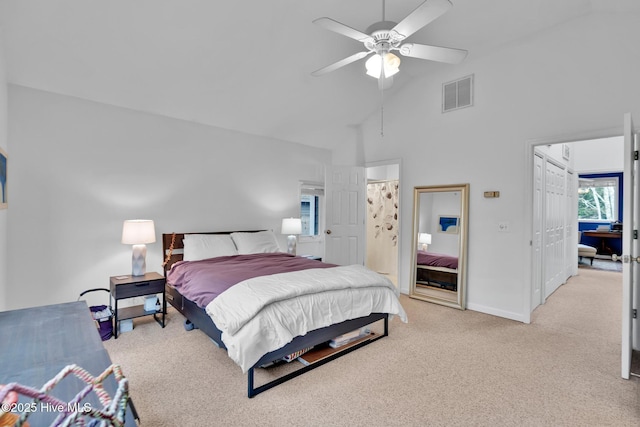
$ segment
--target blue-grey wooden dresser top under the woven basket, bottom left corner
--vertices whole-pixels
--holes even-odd
[[[40,389],[65,366],[78,365],[98,376],[111,365],[102,345],[89,307],[84,301],[47,305],[0,312],[0,384],[17,382]],[[126,369],[123,368],[126,377]],[[68,376],[51,394],[70,401],[85,383]],[[113,375],[104,382],[109,396],[116,391]],[[31,399],[20,396],[20,402]],[[82,402],[102,408],[95,393]],[[126,425],[135,426],[134,409],[129,404]],[[56,412],[36,411],[27,419],[31,426],[48,426],[59,415]]]

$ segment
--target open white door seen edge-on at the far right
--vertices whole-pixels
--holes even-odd
[[[622,378],[631,374],[631,353],[634,338],[638,342],[638,328],[633,319],[634,293],[638,293],[638,241],[634,230],[638,228],[636,191],[638,176],[635,160],[636,144],[631,114],[624,116],[624,173],[623,173],[623,213],[622,213]]]

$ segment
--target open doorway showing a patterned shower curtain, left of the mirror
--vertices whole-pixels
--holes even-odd
[[[400,161],[368,163],[365,265],[398,285]]]

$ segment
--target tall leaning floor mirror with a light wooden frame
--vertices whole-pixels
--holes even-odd
[[[469,184],[414,187],[411,298],[465,309]]]

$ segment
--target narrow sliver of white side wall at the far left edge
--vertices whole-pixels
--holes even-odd
[[[7,75],[0,28],[0,147],[9,156],[7,144]],[[10,157],[9,157],[10,159]],[[8,193],[8,192],[7,192]],[[0,210],[0,311],[7,307],[7,210]]]

